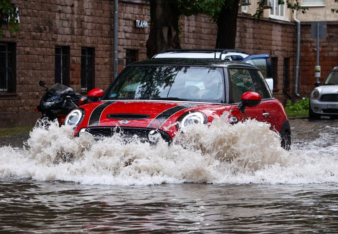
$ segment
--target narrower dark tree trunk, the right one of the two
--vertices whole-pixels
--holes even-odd
[[[236,42],[237,14],[239,0],[225,3],[217,20],[217,38],[215,48],[234,49]]]

